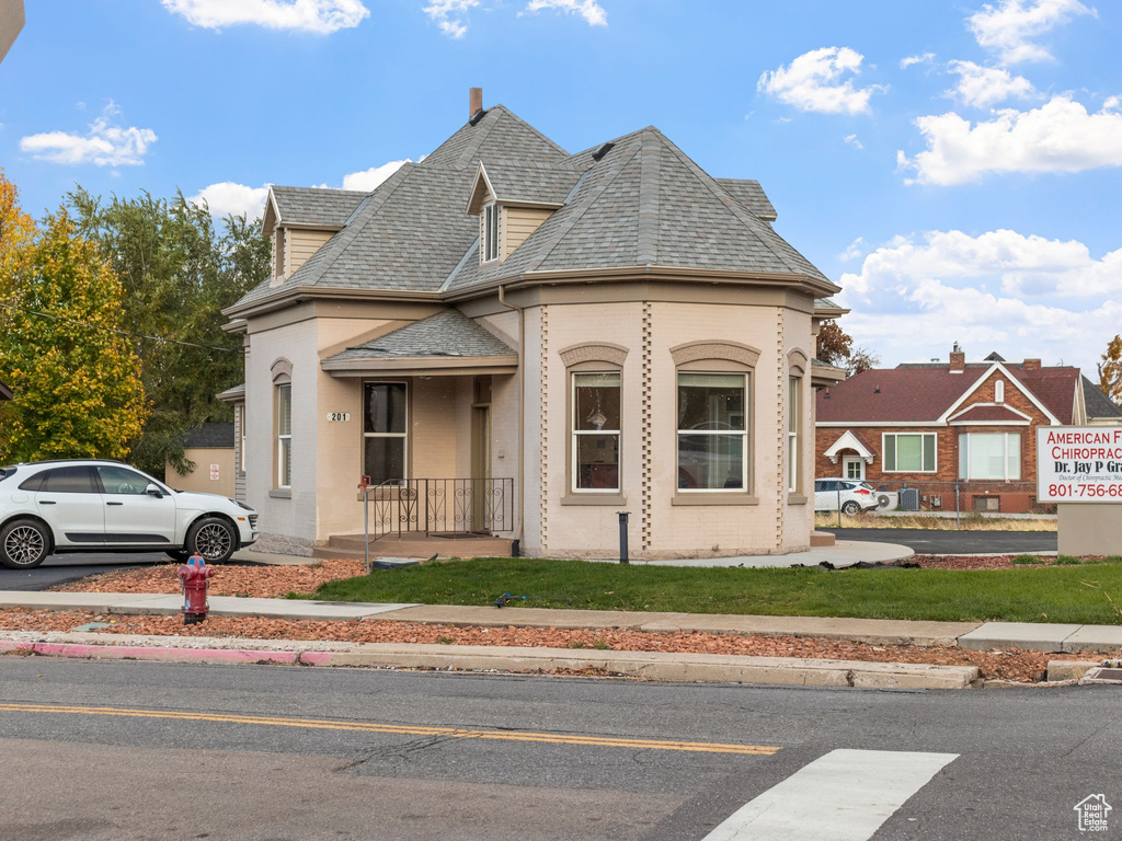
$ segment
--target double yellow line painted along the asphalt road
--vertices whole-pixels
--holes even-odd
[[[172,719],[176,721],[213,721],[232,724],[260,724],[267,727],[298,727],[311,730],[349,730],[365,733],[396,736],[443,736],[452,739],[496,739],[500,741],[545,742],[551,745],[581,745],[601,748],[631,748],[646,750],[684,750],[702,754],[737,754],[741,756],[772,756],[778,747],[762,745],[728,745],[703,741],[664,741],[659,739],[623,739],[610,736],[570,736],[537,733],[525,730],[471,730],[420,724],[377,724],[361,721],[330,721],[295,719],[274,715],[233,715],[211,712],[178,712],[174,710],[129,710],[119,706],[67,706],[56,704],[0,703],[0,712],[56,713],[71,715],[113,715],[119,718]]]

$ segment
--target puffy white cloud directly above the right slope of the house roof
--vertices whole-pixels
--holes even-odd
[[[853,78],[840,81],[846,74],[861,73],[863,59],[861,53],[849,47],[812,49],[785,67],[780,65],[771,73],[763,73],[756,83],[756,90],[770,93],[802,111],[828,114],[867,113],[868,98],[888,87],[854,87]]]

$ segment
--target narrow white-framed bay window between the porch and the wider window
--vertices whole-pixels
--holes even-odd
[[[573,492],[619,491],[619,372],[572,375]]]

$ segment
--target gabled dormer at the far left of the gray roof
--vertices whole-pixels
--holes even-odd
[[[367,193],[325,187],[269,186],[261,233],[272,240],[270,286],[292,277],[348,220]]]

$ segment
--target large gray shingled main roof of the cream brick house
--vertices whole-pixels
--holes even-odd
[[[710,177],[652,127],[617,138],[596,159],[603,147],[568,155],[496,105],[368,196],[343,194],[339,215],[352,210],[343,230],[286,280],[263,281],[238,305],[296,288],[452,294],[524,272],[638,266],[826,280],[765,221],[774,210],[758,183]],[[478,220],[465,213],[480,161],[503,198],[565,202],[486,267],[471,257]]]

